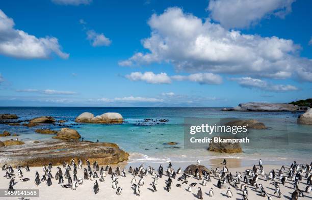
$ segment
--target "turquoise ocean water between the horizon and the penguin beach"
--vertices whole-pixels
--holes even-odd
[[[19,120],[29,120],[39,116],[52,116],[56,120],[67,120],[65,124],[76,129],[85,140],[106,141],[118,144],[129,152],[129,162],[194,162],[212,158],[242,158],[263,160],[270,163],[281,161],[310,162],[312,152],[312,126],[296,123],[301,113],[292,112],[238,112],[221,111],[221,108],[203,107],[0,107],[0,113],[14,113]],[[92,112],[95,116],[105,112],[119,112],[124,123],[119,125],[75,123],[82,112]],[[185,118],[237,118],[256,119],[265,123],[268,129],[252,130],[248,134],[250,144],[242,145],[243,153],[221,154],[201,149],[184,148]],[[168,119],[166,123],[139,126],[144,119]],[[52,139],[51,135],[34,132],[38,128],[59,130],[57,125],[37,127],[9,126],[0,124],[0,132],[8,130],[16,133],[20,140]],[[15,136],[16,137],[16,136]],[[8,138],[15,138],[10,136]],[[2,139],[2,138],[0,138]],[[166,142],[178,142],[168,146]]]

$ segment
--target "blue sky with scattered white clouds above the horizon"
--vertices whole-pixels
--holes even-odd
[[[0,105],[311,98],[310,8],[293,0],[1,2]]]

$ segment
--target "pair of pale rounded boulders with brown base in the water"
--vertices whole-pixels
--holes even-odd
[[[100,116],[95,116],[90,112],[84,112],[76,117],[75,122],[100,123],[100,124],[120,124],[123,122],[122,116],[117,112],[107,112]]]

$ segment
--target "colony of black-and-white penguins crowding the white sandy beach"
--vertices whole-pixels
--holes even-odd
[[[199,163],[199,161],[197,161]],[[217,187],[224,189],[224,192],[221,193],[227,198],[232,198],[233,192],[241,193],[242,200],[248,200],[248,192],[256,192],[259,196],[264,197],[264,199],[271,200],[273,198],[282,198],[285,197],[291,200],[297,200],[299,197],[303,197],[304,193],[311,192],[312,185],[312,162],[308,164],[297,164],[294,161],[289,168],[281,166],[278,172],[275,172],[272,169],[268,174],[265,173],[264,167],[262,165],[262,160],[259,160],[258,165],[253,165],[252,169],[246,169],[244,173],[236,172],[235,175],[229,172],[226,167],[226,160],[223,161],[223,167],[216,169],[211,169],[210,172],[202,170],[199,172],[197,168],[195,172],[190,170],[187,173],[183,173],[181,168],[174,170],[171,163],[164,171],[162,165],[159,166],[157,170],[148,166],[144,167],[144,164],[141,164],[139,167],[133,168],[129,167],[121,169],[119,166],[113,171],[112,167],[107,165],[106,167],[99,167],[98,163],[95,161],[92,165],[86,160],[85,168],[83,167],[83,161],[78,160],[77,163],[74,159],[70,163],[63,163],[62,167],[57,167],[57,173],[53,176],[51,174],[51,169],[53,168],[52,163],[49,163],[47,166],[42,167],[42,172],[34,172],[34,177],[26,178],[23,177],[22,170],[30,172],[31,169],[29,166],[17,166],[14,170],[11,165],[4,164],[2,170],[5,171],[5,178],[10,179],[8,191],[14,191],[14,185],[17,183],[16,175],[21,182],[33,181],[34,184],[40,186],[40,184],[46,184],[51,186],[52,184],[59,184],[62,188],[67,188],[71,190],[76,190],[79,188],[79,185],[82,185],[84,181],[92,181],[93,192],[95,194],[99,193],[99,182],[111,181],[112,189],[116,190],[116,195],[122,195],[123,188],[118,186],[119,178],[126,176],[133,176],[131,183],[129,183],[129,188],[132,188],[134,195],[140,196],[141,191],[140,187],[144,185],[144,177],[152,176],[153,181],[149,184],[152,192],[158,191],[158,185],[160,182],[164,182],[163,176],[165,176],[165,187],[159,189],[164,189],[167,192],[170,192],[172,187],[181,188],[185,185],[186,190],[181,190],[181,192],[193,192],[197,191],[196,197],[198,199],[209,198],[214,196],[214,184],[210,184],[210,189],[206,189],[207,184],[213,180],[217,182]],[[83,177],[77,177],[77,170],[83,170]],[[261,183],[258,183],[259,177],[265,179],[265,181],[270,181],[272,186],[274,186],[275,191],[270,191],[271,194],[267,193],[267,188],[265,188]],[[199,181],[202,180],[201,184],[198,184],[201,187],[196,187],[197,183],[192,182],[194,179]],[[305,181],[306,179],[306,181]],[[65,181],[66,180],[66,181]],[[301,181],[301,182],[300,182]],[[175,182],[175,183],[174,183]],[[305,184],[306,183],[306,184]],[[282,187],[292,187],[294,191],[291,194],[282,193]],[[91,188],[90,188],[91,189]],[[195,193],[196,193],[195,191]]]

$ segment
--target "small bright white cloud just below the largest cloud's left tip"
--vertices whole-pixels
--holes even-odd
[[[125,76],[132,81],[145,81],[148,83],[171,83],[171,78],[166,73],[154,74],[153,72],[133,72]]]

